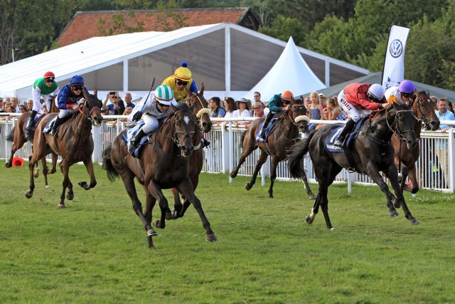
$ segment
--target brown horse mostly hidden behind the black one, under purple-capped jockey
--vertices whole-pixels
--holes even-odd
[[[420,131],[422,130],[422,123],[426,130],[438,130],[439,118],[434,112],[434,103],[427,95],[426,91],[421,91],[417,98],[412,103],[412,112],[417,117],[417,123],[414,127],[417,139],[420,138]],[[419,191],[419,180],[415,168],[415,162],[420,156],[420,145],[415,145],[409,149],[407,145],[402,145],[402,141],[397,135],[392,136],[392,144],[395,149],[395,164],[398,169],[402,170],[401,189],[410,191],[412,194]],[[406,178],[409,174],[412,182],[412,188],[405,187]]]

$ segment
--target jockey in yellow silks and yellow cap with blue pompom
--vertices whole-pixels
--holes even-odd
[[[188,63],[183,62],[181,67],[176,69],[176,72],[166,78],[162,85],[168,85],[173,90],[173,97],[176,101],[186,101],[189,93],[198,92],[198,87],[191,78],[191,70],[187,68]]]

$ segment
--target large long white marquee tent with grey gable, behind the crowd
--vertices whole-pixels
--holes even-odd
[[[46,71],[61,85],[83,75],[89,90],[142,95],[152,76],[161,83],[188,62],[205,96],[242,97],[269,72],[286,43],[233,23],[89,38],[0,66],[0,96],[29,98],[31,85]],[[326,86],[369,73],[364,68],[297,47]],[[294,54],[295,55],[295,54]]]

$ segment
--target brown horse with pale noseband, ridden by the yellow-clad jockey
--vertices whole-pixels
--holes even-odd
[[[200,91],[198,93],[191,93],[191,97],[186,101],[188,105],[191,105],[193,108],[193,113],[198,117],[199,127],[203,132],[208,133],[212,130],[212,122],[210,121],[210,110],[208,110],[208,102],[204,98],[204,84],[200,86]],[[188,169],[188,175],[191,179],[191,184],[193,184],[193,189],[196,191],[196,188],[199,184],[199,174],[202,171],[203,167],[203,147],[200,147],[197,150],[194,150],[190,157],[190,167]],[[183,197],[183,205],[181,203],[180,196],[178,191],[175,188],[172,188],[173,200],[174,200],[174,211],[171,213],[169,210],[167,212],[166,219],[176,219],[178,217],[177,209],[181,209],[180,216],[185,214],[186,209],[190,206],[190,201]]]

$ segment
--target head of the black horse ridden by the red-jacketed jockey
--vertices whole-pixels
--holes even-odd
[[[400,137],[400,140],[406,142],[408,149],[417,145],[414,132],[417,119],[408,105],[393,103],[393,107],[386,110],[385,121],[390,130]]]

